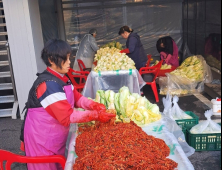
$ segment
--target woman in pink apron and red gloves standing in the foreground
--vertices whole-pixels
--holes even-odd
[[[106,113],[104,105],[88,100],[70,84],[65,76],[70,69],[70,54],[70,46],[61,40],[49,41],[42,51],[48,67],[34,82],[26,103],[21,134],[26,156],[65,156],[70,123],[107,122],[115,117]],[[28,170],[60,169],[55,163],[28,164]]]

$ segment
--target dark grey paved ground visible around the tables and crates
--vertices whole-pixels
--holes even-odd
[[[154,102],[154,97],[149,87],[145,88],[145,95]],[[162,96],[160,96],[162,98]],[[162,102],[159,103],[162,110]],[[208,109],[195,96],[185,97],[180,99],[182,109],[193,110],[200,116],[200,120],[204,120],[203,113]],[[187,109],[188,108],[188,109]],[[214,119],[220,120],[218,117]],[[0,118],[0,149],[8,150],[16,154],[23,154],[20,147],[20,127],[21,120],[12,120],[11,118]],[[195,170],[220,170],[220,152],[197,152],[191,156],[190,161],[195,167]],[[12,170],[26,170],[25,165],[13,164]]]

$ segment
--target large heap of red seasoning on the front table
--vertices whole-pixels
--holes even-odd
[[[174,170],[170,149],[133,122],[98,123],[79,129],[74,170]]]

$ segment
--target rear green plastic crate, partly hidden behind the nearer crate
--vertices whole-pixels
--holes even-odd
[[[186,114],[193,117],[193,119],[183,119],[183,120],[176,120],[177,124],[183,129],[186,125],[197,125],[199,123],[199,117],[195,115],[193,112],[186,111]]]

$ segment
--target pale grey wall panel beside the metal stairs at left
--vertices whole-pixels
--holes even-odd
[[[3,0],[20,112],[36,73],[45,69],[38,0]]]

